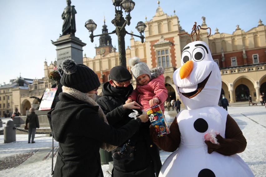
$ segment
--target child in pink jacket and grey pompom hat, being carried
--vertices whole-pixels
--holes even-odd
[[[136,101],[146,111],[148,108],[159,104],[162,112],[164,113],[164,102],[168,96],[167,89],[165,88],[164,68],[162,66],[149,69],[144,63],[139,61],[140,58],[134,57],[129,59],[129,65],[131,66],[131,72],[136,80],[136,89],[129,95],[126,103]],[[135,133],[136,135],[136,133]],[[136,136],[132,136],[126,148],[122,148],[121,151],[115,152],[113,157],[120,159],[133,159],[135,151]],[[128,152],[130,151],[130,152]]]

